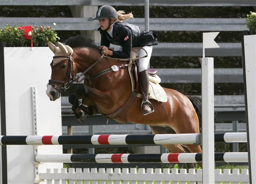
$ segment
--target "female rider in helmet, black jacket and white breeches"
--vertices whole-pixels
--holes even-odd
[[[148,56],[139,59],[139,76],[141,81],[141,111],[143,115],[153,112],[151,103],[148,101],[148,63],[152,53],[152,46],[158,45],[157,35],[153,32],[145,32],[138,26],[122,22],[123,20],[133,18],[133,14],[124,14],[124,11],[116,12],[115,8],[109,5],[101,6],[94,20],[100,22],[98,30],[101,33],[102,54],[106,54],[115,58],[127,59],[130,57],[132,47],[142,47],[147,51]],[[119,45],[119,49],[110,50],[110,43]],[[139,57],[145,55],[141,49]],[[153,107],[153,106],[152,106]]]

